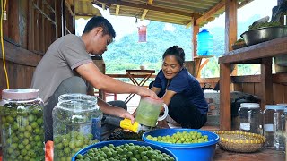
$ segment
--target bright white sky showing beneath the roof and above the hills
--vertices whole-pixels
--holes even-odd
[[[260,18],[265,16],[269,16],[271,19],[272,8],[277,5],[277,0],[254,0],[250,4],[239,9],[238,12],[238,21],[246,21],[247,17],[252,15],[260,15]],[[97,7],[97,6],[96,6]],[[124,37],[127,34],[131,34],[137,32],[137,24],[135,23],[134,17],[123,17],[123,16],[114,16],[109,15],[109,10],[103,11],[100,7],[98,7],[100,13],[103,17],[108,19],[116,30],[117,36],[116,40]],[[138,23],[146,23],[149,21],[138,21]],[[87,20],[79,19],[76,21],[76,35],[82,35],[83,28]],[[213,22],[207,23],[204,28],[210,29],[214,27],[223,27],[225,25],[225,14],[222,14],[218,18],[216,18]],[[166,23],[165,30],[172,30],[172,24]]]

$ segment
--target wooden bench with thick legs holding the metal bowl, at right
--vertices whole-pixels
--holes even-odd
[[[220,129],[231,129],[230,74],[231,64],[260,64],[261,109],[273,104],[272,58],[287,55],[287,38],[276,38],[254,46],[230,51],[219,58],[220,64]],[[259,89],[259,88],[258,88]]]

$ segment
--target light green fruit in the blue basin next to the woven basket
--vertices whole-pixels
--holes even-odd
[[[208,141],[208,136],[203,135],[198,131],[178,131],[174,134],[165,135],[165,136],[157,136],[152,137],[151,135],[146,136],[146,139],[159,141],[164,143],[172,143],[172,144],[189,144],[189,143],[202,143]]]

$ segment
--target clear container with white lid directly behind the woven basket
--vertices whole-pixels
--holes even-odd
[[[262,134],[262,112],[259,104],[240,104],[239,131]]]

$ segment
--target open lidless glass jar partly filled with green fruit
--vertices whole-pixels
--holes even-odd
[[[97,97],[61,95],[52,116],[54,160],[70,161],[77,151],[100,141],[102,112]]]

